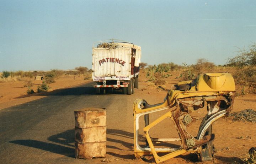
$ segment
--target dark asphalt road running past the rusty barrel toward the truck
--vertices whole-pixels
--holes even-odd
[[[131,107],[134,98],[122,95],[121,91],[96,95],[93,85],[91,82],[75,88],[43,93],[45,98],[0,110],[0,163],[99,162],[74,158],[74,110],[85,107],[105,107],[107,137],[119,131],[129,134],[129,142],[132,143]],[[130,117],[127,118],[127,115]],[[119,118],[114,119],[116,117]],[[120,130],[117,120],[129,122],[129,125],[121,129],[130,130]],[[112,141],[109,137],[107,140]],[[130,143],[125,145],[122,141],[113,140],[113,144],[118,142],[132,148],[128,145]]]

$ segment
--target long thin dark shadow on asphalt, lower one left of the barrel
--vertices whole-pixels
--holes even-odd
[[[36,141],[36,140],[14,140],[9,142],[13,144],[38,148],[38,149],[49,151],[52,153],[61,154],[67,157],[72,157],[72,158],[75,157],[74,148],[69,148],[61,145],[56,145],[56,144],[51,144],[51,143]]]

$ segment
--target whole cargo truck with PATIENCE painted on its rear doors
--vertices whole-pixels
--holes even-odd
[[[133,94],[139,88],[141,47],[131,42],[110,39],[92,45],[92,80],[97,94],[109,89]]]

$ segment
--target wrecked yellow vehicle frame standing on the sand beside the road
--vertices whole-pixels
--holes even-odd
[[[153,154],[156,163],[176,157],[183,153],[197,153],[199,160],[213,160],[214,147],[212,140],[212,123],[217,119],[228,116],[232,110],[235,95],[235,82],[229,73],[207,73],[199,75],[191,81],[182,81],[175,89],[167,93],[165,101],[149,105],[143,99],[134,102],[134,153],[136,158]],[[187,132],[187,127],[195,121],[191,110],[197,110],[207,105],[207,115],[203,118],[197,136]],[[169,111],[149,124],[149,114],[162,110]],[[139,118],[144,116],[146,146],[139,145]],[[153,138],[149,130],[165,118],[171,118],[180,138]],[[155,148],[153,142],[180,141],[180,148]],[[159,156],[158,153],[167,153]]]

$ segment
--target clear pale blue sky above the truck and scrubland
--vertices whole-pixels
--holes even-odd
[[[92,43],[121,39],[142,62],[225,64],[256,42],[255,0],[0,0],[0,71],[91,68]]]

